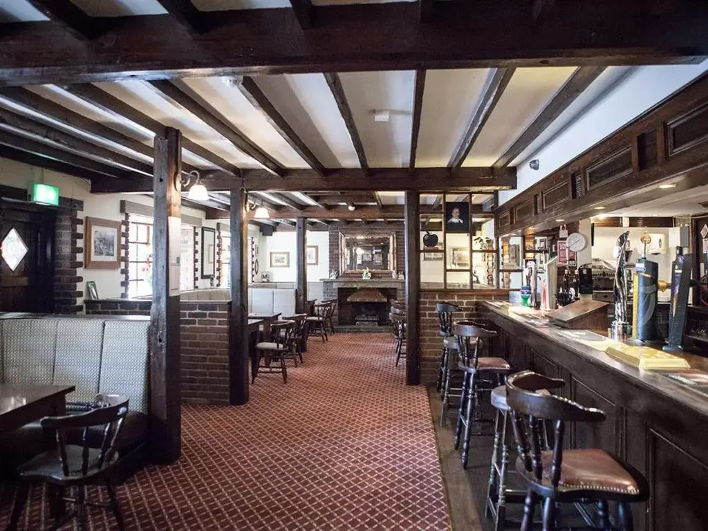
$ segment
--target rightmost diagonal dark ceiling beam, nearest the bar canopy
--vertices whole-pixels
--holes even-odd
[[[506,152],[499,157],[494,166],[499,168],[511,164],[603,72],[605,72],[605,67],[580,67],[573,72],[541,113],[526,127],[524,132],[510,145]]]

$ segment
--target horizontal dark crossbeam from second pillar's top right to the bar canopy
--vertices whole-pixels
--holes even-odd
[[[360,169],[338,169],[326,177],[311,170],[290,170],[280,178],[266,171],[244,170],[248,190],[299,192],[309,190],[360,190],[421,192],[479,192],[516,188],[515,168],[460,168],[450,174],[447,168],[371,168],[368,175]]]

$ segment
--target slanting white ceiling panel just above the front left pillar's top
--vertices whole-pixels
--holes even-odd
[[[204,122],[195,118],[183,108],[178,108],[154,91],[143,81],[120,81],[117,83],[96,84],[104,91],[120,98],[128,105],[157,120],[163,125],[176,127],[188,139],[209,149],[232,164],[247,168],[260,168],[261,165],[250,156],[240,152],[227,139],[219,135]]]

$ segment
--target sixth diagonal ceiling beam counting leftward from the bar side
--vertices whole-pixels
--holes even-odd
[[[171,101],[171,103],[176,104],[178,107],[183,107],[188,110],[195,115],[195,117],[199,118],[199,120],[218,132],[219,135],[222,135],[229,140],[229,142],[234,144],[236,149],[239,149],[239,151],[255,159],[258,164],[263,165],[265,169],[272,171],[275,175],[282,175],[284,173],[284,169],[278,161],[275,161],[275,159],[263,152],[260,147],[247,139],[235,125],[225,122],[223,118],[217,115],[215,110],[207,108],[208,103],[195,100],[195,98],[170,81],[152,81],[151,84],[167,101]]]

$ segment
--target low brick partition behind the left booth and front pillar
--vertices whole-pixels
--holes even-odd
[[[87,314],[149,315],[149,300],[86,301]],[[180,303],[181,393],[190,404],[229,404],[231,302]]]

